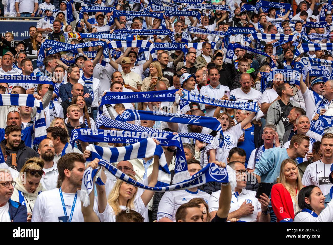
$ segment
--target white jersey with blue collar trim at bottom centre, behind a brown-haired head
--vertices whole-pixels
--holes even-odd
[[[203,198],[208,203],[209,194],[199,189],[196,192],[189,190],[165,192],[157,210],[157,221],[162,218],[169,218],[173,222],[176,222],[176,212],[180,205],[187,203],[195,197]]]

